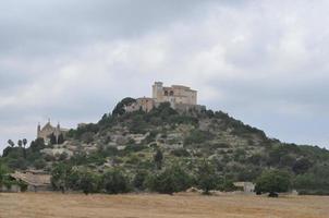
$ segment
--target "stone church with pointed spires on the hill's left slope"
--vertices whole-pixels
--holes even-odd
[[[50,120],[45,124],[44,128],[40,126],[40,123],[38,124],[37,128],[37,138],[44,138],[45,144],[49,144],[50,142],[50,136],[53,134],[56,137],[56,142],[59,142],[60,136],[65,136],[69,130],[62,129],[60,126],[60,123],[57,124],[57,126],[52,126],[50,123]]]

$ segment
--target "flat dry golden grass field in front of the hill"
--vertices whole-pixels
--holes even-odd
[[[327,218],[329,197],[0,194],[1,218]]]

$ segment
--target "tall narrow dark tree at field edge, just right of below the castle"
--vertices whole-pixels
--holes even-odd
[[[205,194],[217,186],[219,178],[216,174],[215,167],[207,160],[204,160],[198,167],[197,183]]]

